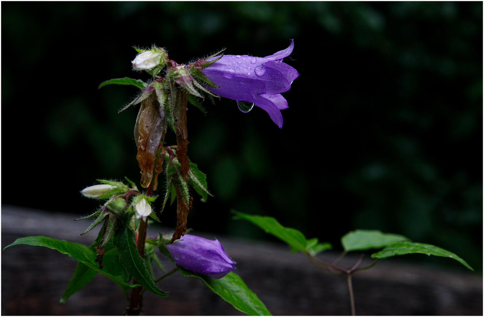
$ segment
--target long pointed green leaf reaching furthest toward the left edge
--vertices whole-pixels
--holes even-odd
[[[134,284],[134,285],[127,284],[119,276],[113,276],[108,272],[106,272],[105,270],[99,269],[97,267],[96,262],[94,262],[94,259],[96,258],[96,252],[85,245],[75,243],[75,242],[69,242],[65,240],[53,239],[43,235],[38,235],[38,236],[29,236],[25,238],[18,238],[15,240],[14,243],[3,248],[3,250],[19,244],[47,247],[54,250],[58,250],[62,254],[68,254],[71,258],[74,258],[77,261],[82,262],[92,270],[110,278],[116,284],[118,284],[118,286],[121,287],[122,290],[127,290],[129,288],[134,288],[139,286],[138,284]]]

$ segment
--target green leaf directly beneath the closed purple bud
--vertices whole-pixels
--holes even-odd
[[[182,276],[198,277],[209,289],[222,297],[236,309],[250,316],[272,316],[266,305],[250,290],[240,276],[230,272],[226,276],[214,279],[205,274],[198,274],[178,266]]]

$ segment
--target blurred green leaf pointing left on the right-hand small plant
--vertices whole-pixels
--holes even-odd
[[[272,234],[282,241],[286,242],[291,248],[304,252],[306,250],[307,241],[301,231],[284,227],[273,217],[257,216],[245,214],[231,210],[238,218],[247,220],[255,224],[260,229],[268,234]]]

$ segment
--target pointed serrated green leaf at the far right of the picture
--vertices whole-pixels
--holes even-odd
[[[418,243],[418,242],[410,242],[410,241],[397,242],[384,248],[379,252],[373,253],[371,257],[378,258],[378,259],[385,259],[385,258],[393,257],[394,255],[403,255],[403,254],[409,254],[409,253],[423,253],[428,256],[437,255],[439,257],[452,258],[454,260],[461,262],[468,269],[474,271],[474,269],[470,267],[470,265],[466,261],[464,261],[455,253],[452,253],[451,251],[447,251],[443,248],[439,248],[434,245],[426,244],[426,243]]]

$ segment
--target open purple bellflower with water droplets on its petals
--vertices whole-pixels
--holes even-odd
[[[281,93],[288,91],[299,76],[296,69],[282,62],[293,49],[294,40],[287,49],[266,57],[223,55],[201,72],[220,87],[208,87],[212,92],[236,100],[242,112],[249,112],[254,105],[266,110],[282,128],[280,110],[288,106]]]

